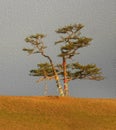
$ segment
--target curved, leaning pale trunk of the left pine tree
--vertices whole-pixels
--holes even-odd
[[[56,85],[57,85],[57,87],[58,87],[59,94],[60,94],[60,96],[64,96],[64,92],[63,92],[62,86],[61,86],[61,84],[60,84],[59,76],[58,76],[58,74],[57,74],[57,72],[56,72],[56,69],[55,69],[55,67],[54,67],[54,64],[53,64],[51,58],[50,58],[49,56],[45,55],[44,53],[41,53],[41,54],[42,54],[44,57],[48,58],[48,60],[49,60],[49,62],[50,62],[50,64],[51,64],[51,66],[52,66],[53,73],[54,73],[54,75],[55,75]]]

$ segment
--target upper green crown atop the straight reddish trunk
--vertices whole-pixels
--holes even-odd
[[[68,25],[63,28],[59,28],[56,33],[63,33],[60,40],[56,41],[55,44],[63,43],[61,46],[61,54],[58,56],[71,58],[76,54],[77,49],[90,45],[91,38],[81,36],[80,30],[84,26],[81,24]]]

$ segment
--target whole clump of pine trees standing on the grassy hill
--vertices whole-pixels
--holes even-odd
[[[101,69],[97,68],[95,64],[81,65],[78,62],[67,64],[68,59],[72,59],[77,53],[77,50],[90,45],[91,38],[87,38],[81,35],[80,30],[84,26],[82,24],[68,25],[59,28],[56,33],[61,33],[61,39],[56,41],[55,44],[63,43],[58,55],[62,58],[62,64],[55,65],[50,58],[46,55],[44,49],[44,43],[42,39],[45,37],[43,34],[31,35],[25,39],[26,42],[31,43],[32,48],[24,48],[23,51],[27,51],[29,54],[40,53],[42,56],[48,59],[49,63],[38,64],[38,69],[33,69],[30,71],[32,76],[41,76],[37,81],[51,80],[55,79],[57,87],[59,89],[60,96],[68,96],[69,88],[68,82],[75,79],[90,79],[90,80],[102,80]],[[64,91],[60,84],[59,76],[63,77],[64,81]]]

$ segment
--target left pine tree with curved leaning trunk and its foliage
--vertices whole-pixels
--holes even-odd
[[[45,37],[45,35],[43,34],[35,34],[35,35],[31,35],[29,37],[27,37],[25,39],[25,41],[27,43],[31,44],[31,48],[23,48],[23,51],[27,51],[29,54],[35,54],[35,53],[40,53],[42,56],[44,56],[45,58],[48,59],[49,64],[52,68],[52,70],[50,70],[53,74],[52,76],[54,76],[55,80],[56,80],[56,84],[60,93],[60,96],[64,96],[64,92],[62,90],[62,86],[60,84],[60,80],[59,80],[59,76],[56,72],[55,66],[53,64],[52,59],[50,58],[50,56],[46,55],[44,52],[44,49],[46,48],[46,46],[44,45],[43,42],[43,38]],[[39,64],[38,66],[40,67],[38,70],[31,70],[30,73],[33,76],[44,76],[43,79],[47,79],[49,77],[49,64],[44,63],[44,64]]]

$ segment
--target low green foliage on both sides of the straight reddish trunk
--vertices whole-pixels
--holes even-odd
[[[58,68],[58,74],[62,77],[63,73],[63,65],[56,65]],[[75,80],[75,79],[90,79],[90,80],[103,80],[104,77],[101,75],[101,69],[96,66],[96,64],[87,64],[81,65],[78,62],[71,63],[66,65],[67,68],[67,79]]]

